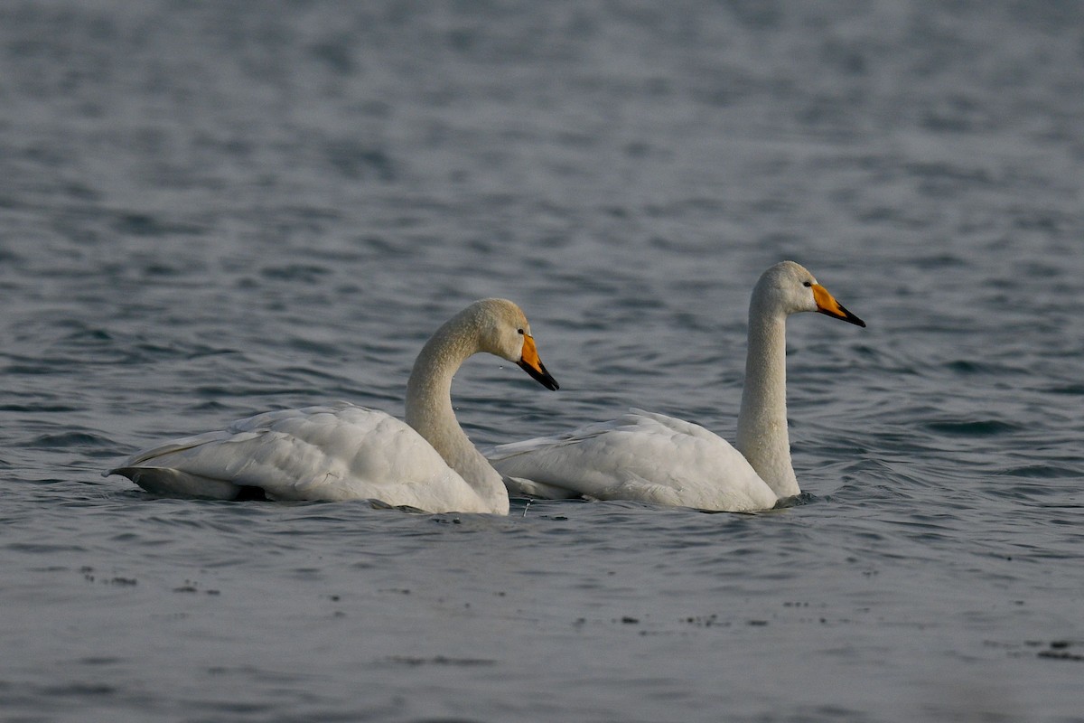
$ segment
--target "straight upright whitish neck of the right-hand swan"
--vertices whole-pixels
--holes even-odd
[[[749,305],[749,351],[738,414],[738,451],[779,498],[801,492],[787,437],[786,314],[756,293]]]

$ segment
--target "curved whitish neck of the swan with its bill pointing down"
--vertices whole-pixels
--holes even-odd
[[[406,424],[424,437],[494,509],[507,513],[508,493],[501,475],[475,448],[452,410],[452,377],[479,351],[470,318],[453,317],[422,348],[406,383]]]

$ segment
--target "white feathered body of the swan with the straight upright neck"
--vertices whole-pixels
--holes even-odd
[[[518,493],[732,512],[765,509],[777,501],[726,440],[700,425],[641,410],[565,435],[501,444],[487,456]]]

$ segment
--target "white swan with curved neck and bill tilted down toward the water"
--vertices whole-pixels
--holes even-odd
[[[271,500],[374,500],[424,512],[506,515],[501,475],[452,411],[452,375],[481,351],[557,389],[519,307],[482,299],[422,348],[406,383],[405,423],[348,402],[266,412],[144,450],[104,475],[122,475],[159,494],[234,500],[262,491]]]

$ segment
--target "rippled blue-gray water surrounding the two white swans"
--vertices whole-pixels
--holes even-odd
[[[0,4],[4,721],[1084,721],[1084,5]],[[757,275],[803,503],[153,499],[259,411],[733,439]]]

